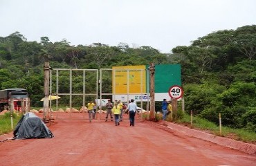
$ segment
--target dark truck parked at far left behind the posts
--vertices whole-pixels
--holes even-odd
[[[9,108],[10,99],[13,99],[14,109],[21,109],[22,99],[28,98],[26,89],[3,89],[0,90],[0,111]]]

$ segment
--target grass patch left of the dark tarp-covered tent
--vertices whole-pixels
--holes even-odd
[[[22,115],[17,115],[16,113],[12,114],[13,119],[13,129],[15,129],[17,123],[19,122]],[[10,133],[13,131],[10,120],[10,113],[5,113],[0,116],[0,135],[5,133]]]

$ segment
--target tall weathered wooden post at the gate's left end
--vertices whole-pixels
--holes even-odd
[[[50,75],[50,63],[44,62],[44,122],[49,121],[49,75]],[[48,116],[48,118],[46,117]]]

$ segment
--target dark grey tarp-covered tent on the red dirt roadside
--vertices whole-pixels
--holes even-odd
[[[53,133],[46,127],[43,120],[31,112],[22,116],[13,134],[13,139],[53,138]]]

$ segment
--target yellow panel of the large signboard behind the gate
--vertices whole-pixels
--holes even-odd
[[[113,93],[146,93],[146,66],[113,66]]]

